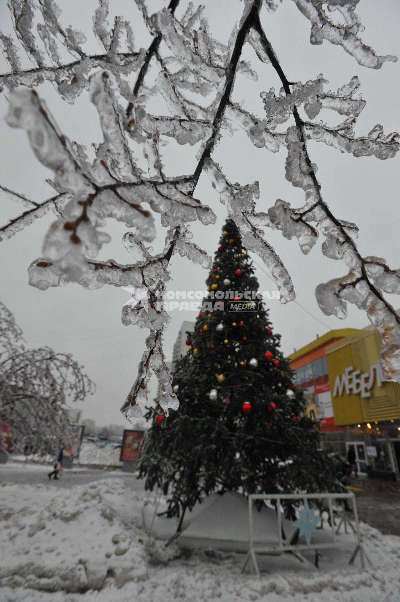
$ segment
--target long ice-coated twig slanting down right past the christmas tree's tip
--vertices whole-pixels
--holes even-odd
[[[257,253],[271,272],[280,291],[280,302],[288,303],[295,299],[294,287],[285,265],[273,247],[263,240],[263,231],[255,228],[251,223],[250,218],[255,213],[253,196],[259,198],[258,182],[244,187],[239,184],[232,185],[212,160],[206,161],[205,172],[212,186],[220,194],[221,203],[227,206],[230,217],[238,226],[243,246]]]

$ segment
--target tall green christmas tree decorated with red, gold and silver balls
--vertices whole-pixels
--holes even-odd
[[[335,491],[336,459],[321,450],[318,426],[303,415],[303,393],[292,384],[232,220],[206,284],[188,353],[174,366],[179,409],[165,417],[147,408],[146,488],[163,489],[171,515],[214,491]]]

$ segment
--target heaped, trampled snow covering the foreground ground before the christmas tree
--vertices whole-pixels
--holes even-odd
[[[319,570],[290,555],[260,557],[257,579],[241,574],[244,554],[149,545],[145,499],[120,479],[68,490],[4,483],[1,602],[400,602],[398,537],[362,525],[372,569],[359,560],[350,568],[351,548],[324,550]]]

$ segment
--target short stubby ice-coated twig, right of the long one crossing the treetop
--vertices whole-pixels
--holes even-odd
[[[288,240],[292,240],[293,237],[298,238],[298,244],[304,255],[310,252],[318,239],[318,232],[292,211],[291,203],[277,199],[275,206],[268,209],[268,215],[273,230],[282,230],[283,236]]]

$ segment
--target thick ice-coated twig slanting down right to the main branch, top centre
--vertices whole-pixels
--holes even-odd
[[[174,26],[174,19],[167,8],[162,8],[158,13],[154,14],[153,22],[161,31],[164,42],[167,44],[171,52],[179,59],[188,69],[195,75],[200,75],[203,79],[209,82],[219,83],[225,76],[225,71],[221,67],[211,66],[202,58],[195,54],[191,48],[185,45],[183,36],[177,33]]]

